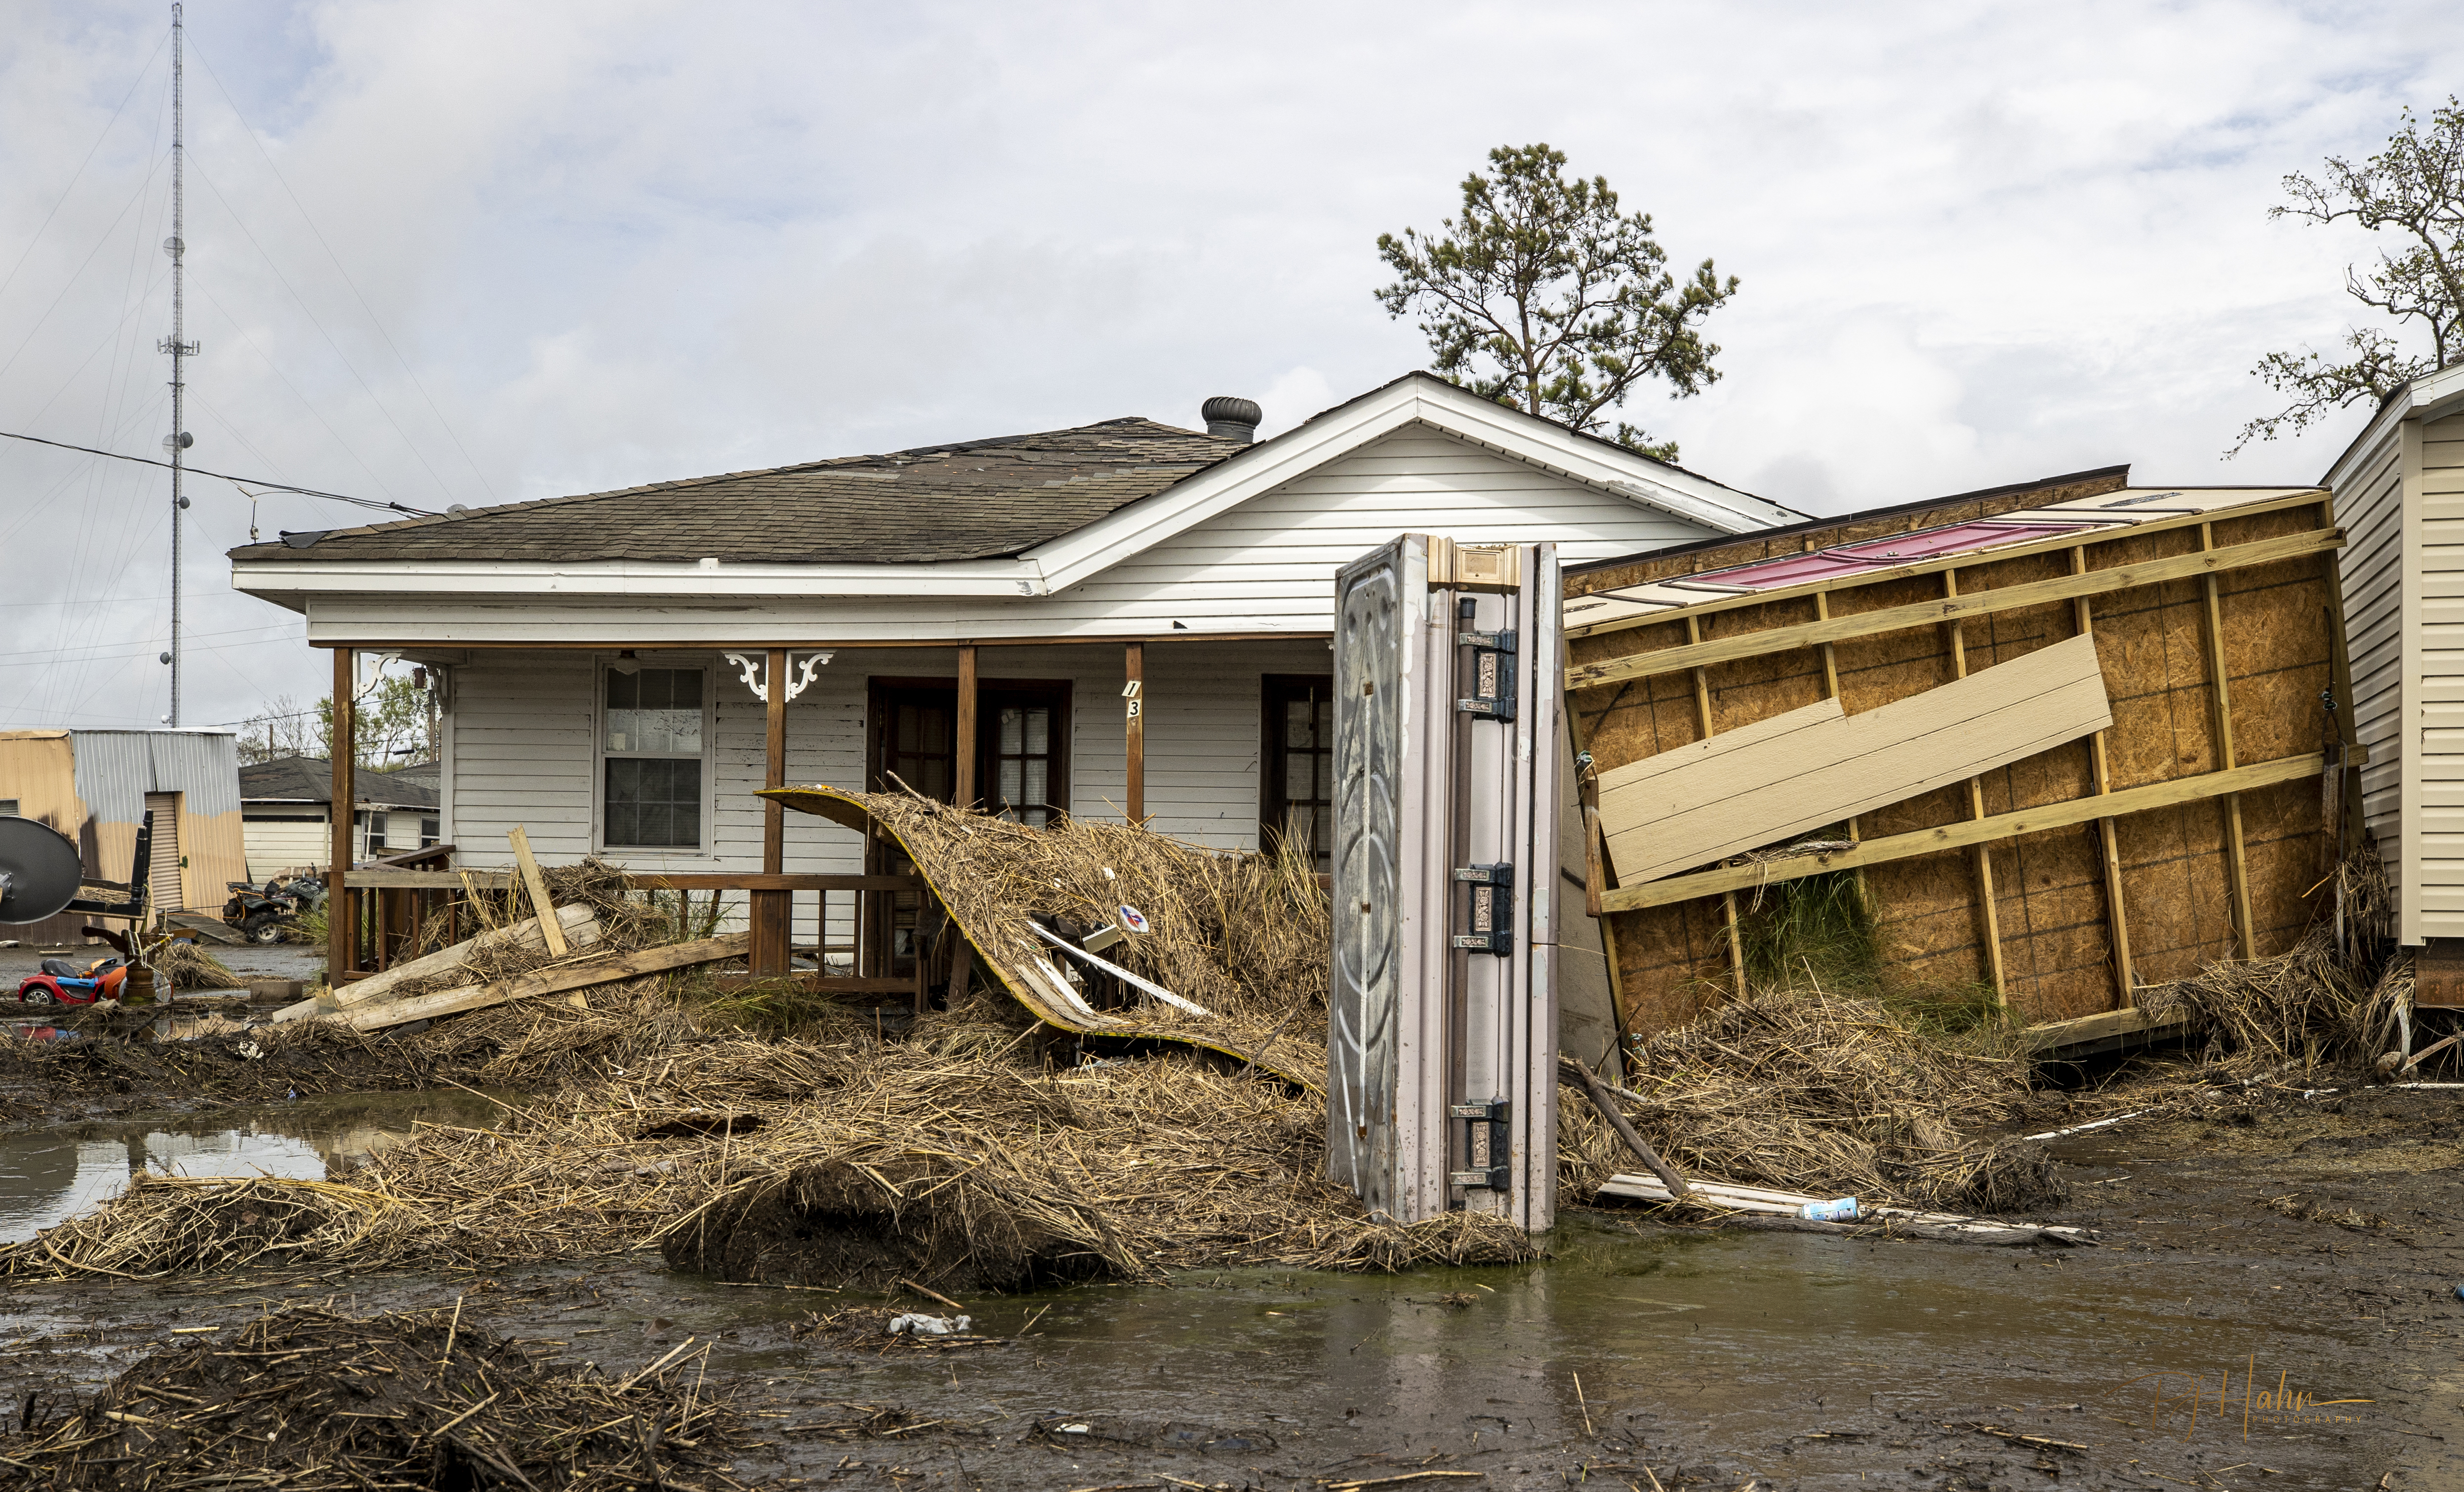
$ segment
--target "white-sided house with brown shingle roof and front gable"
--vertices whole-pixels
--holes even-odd
[[[338,680],[444,680],[458,864],[525,825],[547,862],[752,889],[867,869],[764,783],[1318,840],[1340,564],[1400,532],[1597,559],[1801,517],[1427,374],[1271,441],[1244,399],[1205,414],[283,534],[234,584],[306,613]]]

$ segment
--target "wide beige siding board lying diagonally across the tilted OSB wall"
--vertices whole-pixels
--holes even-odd
[[[1621,886],[1784,842],[2077,741],[2112,724],[2094,638],[1843,714],[1806,704],[1599,778]]]

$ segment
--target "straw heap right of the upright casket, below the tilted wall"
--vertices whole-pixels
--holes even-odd
[[[2060,1199],[2040,1147],[1961,1140],[2008,1118],[2025,1066],[1944,1046],[1875,1002],[1769,990],[1653,1037],[1629,1066],[1626,1118],[1688,1177],[1956,1211]],[[1589,1105],[1560,1113],[1562,1197],[1636,1169]]]

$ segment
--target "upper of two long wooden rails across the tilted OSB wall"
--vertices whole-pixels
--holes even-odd
[[[2240,515],[2235,515],[2240,517]],[[2129,529],[2124,529],[2129,532]],[[1599,684],[1616,684],[1624,680],[1648,680],[1653,675],[1673,675],[1690,667],[1710,667],[1715,662],[1735,662],[1740,657],[1759,657],[1764,652],[1786,652],[1791,648],[1816,648],[1821,643],[1846,643],[1848,638],[1870,638],[1873,633],[1897,633],[1907,628],[1929,628],[1934,623],[1947,623],[1964,616],[1991,616],[1996,611],[2016,611],[2023,606],[2048,606],[2053,601],[2075,601],[2080,596],[2102,596],[2107,591],[2129,591],[2134,586],[2154,586],[2158,581],[2181,581],[2190,576],[2215,576],[2227,569],[2247,569],[2255,564],[2277,564],[2282,559],[2301,559],[2306,554],[2326,554],[2343,547],[2343,532],[2338,529],[2311,529],[2304,534],[2282,534],[2277,539],[2257,539],[2250,544],[2232,544],[2227,549],[2205,549],[2195,554],[2176,554],[2171,559],[2151,559],[2146,564],[2124,564],[2114,569],[2092,569],[2075,576],[2055,576],[2050,581],[2025,581],[2018,586],[1996,586],[1991,591],[1971,591],[1956,598],[1919,601],[1915,606],[1887,606],[1882,611],[1865,611],[1858,616],[1841,616],[1831,620],[1796,623],[1789,628],[1767,628],[1759,633],[1740,633],[1735,638],[1720,638],[1717,643],[1688,643],[1683,648],[1661,648],[1653,652],[1634,652],[1629,657],[1604,657],[1599,662],[1582,662],[1565,670],[1567,689],[1597,689]],[[2001,551],[1966,556],[1966,564],[1998,564],[2008,559]],[[1949,574],[1944,569],[1942,574]],[[1870,586],[1878,576],[1850,576],[1826,586],[1828,591]],[[1774,591],[1769,596],[1754,596],[1754,601],[1781,601],[1801,591]],[[1700,633],[1700,613],[1688,611],[1688,635]]]

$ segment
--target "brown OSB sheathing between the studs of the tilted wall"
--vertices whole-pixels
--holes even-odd
[[[2119,483],[2114,483],[2119,485]],[[2112,490],[2107,485],[2082,487]],[[2008,512],[2050,502],[2043,490],[1991,507]],[[1905,532],[1976,517],[1927,512],[1880,532]],[[2215,522],[2215,547],[2321,527],[2321,507],[2294,507]],[[1875,534],[1816,534],[1818,544]],[[1796,551],[1791,539],[1784,549]],[[2089,569],[2109,569],[2200,549],[2198,527],[2134,534],[2087,547]],[[1690,569],[1720,569],[1759,556],[1754,544],[1688,556]],[[1685,574],[1678,569],[1673,574]],[[2035,554],[1959,571],[1959,593],[1991,591],[2070,574],[2070,554]],[[2311,556],[2218,579],[2225,618],[2225,672],[2232,697],[2235,763],[2250,766],[2319,751],[2328,682],[2331,559]],[[1634,584],[1631,576],[1614,584]],[[1582,586],[1602,588],[1599,584]],[[1574,586],[1570,584],[1570,593]],[[1828,593],[1831,616],[1932,601],[1934,576],[1910,576]],[[1727,638],[1814,620],[1811,598],[1700,616],[1703,638]],[[2114,790],[2223,768],[2208,677],[2208,598],[2200,581],[2171,581],[2089,598],[2097,657],[2112,697],[2114,726],[2107,761]],[[1961,623],[1969,672],[2011,662],[2075,635],[2072,603],[1991,613]],[[1954,677],[1949,625],[1912,628],[1833,645],[1846,709],[1863,712],[1905,699]],[[1683,620],[1656,623],[1574,643],[1574,660],[1624,657],[1685,643]],[[1712,726],[1769,719],[1823,697],[1821,650],[1796,648],[1705,670]],[[1693,675],[1658,675],[1626,687],[1574,697],[1589,712],[1592,756],[1602,771],[1698,739]],[[1981,778],[1984,812],[2067,803],[2094,793],[2089,744],[2045,751]],[[2319,780],[2301,778],[2245,793],[2242,840],[2257,950],[2289,948],[2309,923],[2306,894],[2321,874]],[[2141,985],[2195,973],[2235,955],[2232,879],[2227,869],[2225,803],[2203,800],[2117,820],[2124,908],[2134,975]],[[1944,788],[1895,803],[1858,822],[1863,837],[1902,835],[1971,817],[1966,788]],[[2114,941],[2107,908],[2102,837],[2094,822],[1998,842],[1993,908],[2001,926],[2006,990],[2020,1019],[2048,1022],[2112,1009]],[[1986,918],[1979,904],[1976,854],[1956,849],[1868,867],[1868,894],[1880,916],[1880,948],[1892,975],[1919,987],[1951,990],[1991,977]],[[1740,894],[1752,906],[1752,894]],[[1683,906],[1614,913],[1619,977],[1631,1029],[1651,1032],[1690,1019],[1732,985],[1727,928],[1717,896]]]

